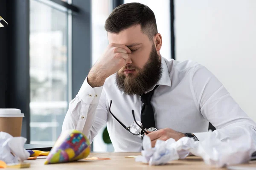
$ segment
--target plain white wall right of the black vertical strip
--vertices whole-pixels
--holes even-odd
[[[205,65],[256,121],[256,0],[175,0],[176,60]]]

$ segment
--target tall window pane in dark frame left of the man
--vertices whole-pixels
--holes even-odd
[[[54,5],[54,4],[53,4]],[[30,0],[30,136],[54,144],[70,101],[68,12]],[[39,135],[40,134],[40,135]]]

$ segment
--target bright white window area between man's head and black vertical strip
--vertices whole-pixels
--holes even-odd
[[[170,0],[124,0],[124,3],[132,2],[145,4],[154,12],[157,20],[157,30],[162,35],[163,40],[160,54],[166,59],[171,59]]]

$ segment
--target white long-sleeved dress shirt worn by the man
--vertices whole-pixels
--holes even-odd
[[[251,127],[256,134],[255,122],[207,68],[196,62],[168,61],[163,57],[161,62],[163,74],[151,99],[158,130],[168,127],[182,133],[194,133],[200,141],[209,133],[225,140],[231,135],[230,127],[232,133],[232,127],[244,125]],[[134,122],[131,110],[140,121],[143,103],[139,95],[119,91],[115,81],[115,75],[111,75],[102,87],[92,88],[86,78],[76,98],[69,104],[62,131],[80,130],[92,142],[107,124],[115,151],[141,151],[141,137],[125,130],[109,112],[109,105],[112,100],[111,112],[128,127]],[[209,122],[217,130],[208,132]]]

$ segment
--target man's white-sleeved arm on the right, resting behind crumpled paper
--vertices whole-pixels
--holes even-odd
[[[239,133],[236,127],[250,127],[256,138],[256,123],[239,107],[223,84],[202,65],[198,65],[191,77],[191,90],[195,103],[205,119],[212,123],[214,132],[194,133],[199,141],[215,134],[220,140],[232,139]]]

